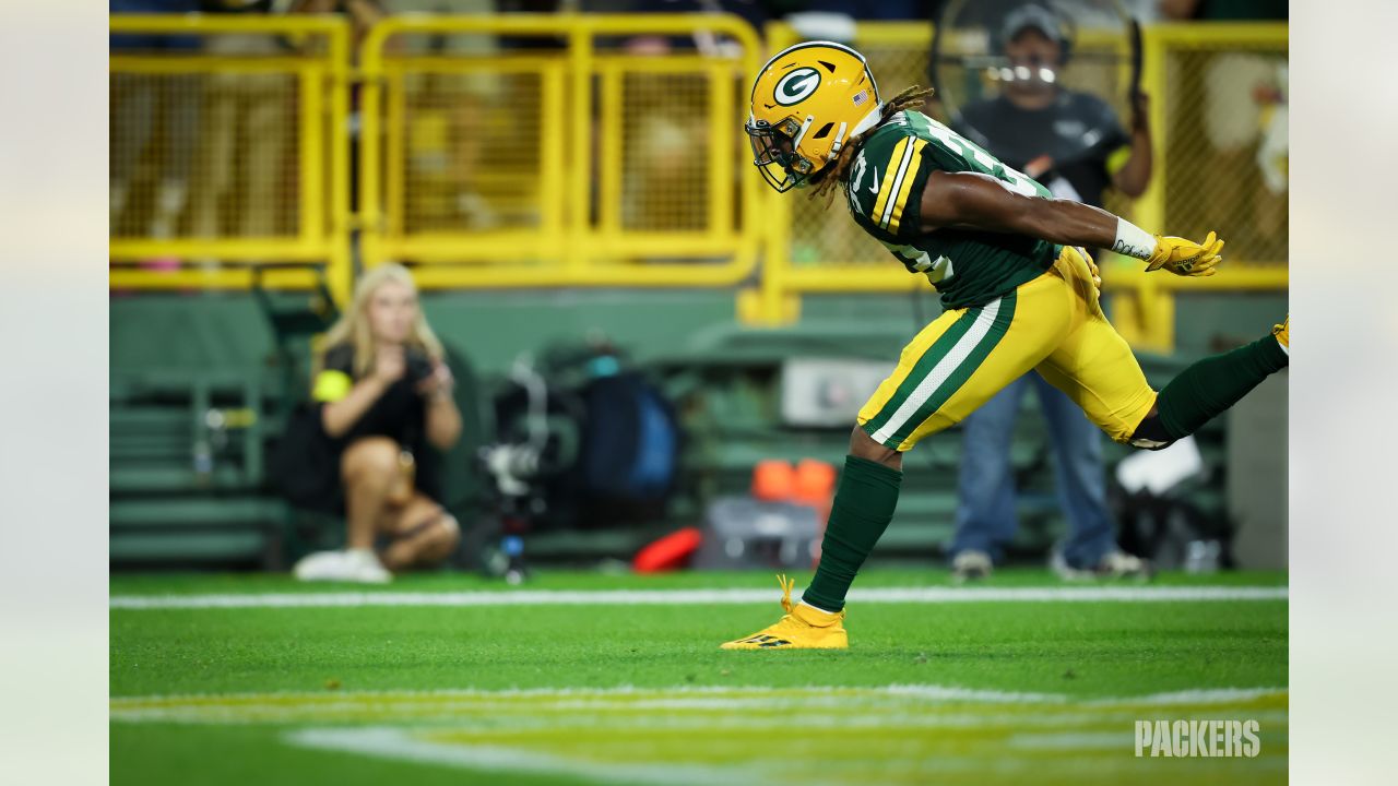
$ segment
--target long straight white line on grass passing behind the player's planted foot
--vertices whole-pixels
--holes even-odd
[[[773,603],[769,589],[308,592],[238,594],[119,594],[110,608],[334,608],[368,606],[679,606]],[[850,603],[1172,603],[1286,600],[1286,587],[1090,586],[1090,587],[870,587]]]

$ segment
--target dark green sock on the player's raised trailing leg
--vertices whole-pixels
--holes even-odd
[[[1160,425],[1170,439],[1194,434],[1269,375],[1286,368],[1288,361],[1275,336],[1204,358],[1160,390],[1156,399]]]

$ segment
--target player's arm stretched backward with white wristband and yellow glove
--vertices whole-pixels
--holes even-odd
[[[1130,221],[1078,201],[1026,196],[974,172],[932,172],[923,189],[921,228],[970,228],[1029,235],[1050,243],[1111,249],[1165,267],[1177,276],[1213,276],[1223,241],[1213,232],[1202,243],[1151,235]]]

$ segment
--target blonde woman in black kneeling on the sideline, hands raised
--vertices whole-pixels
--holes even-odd
[[[432,450],[461,435],[443,357],[405,267],[359,280],[316,361],[312,399],[329,449],[326,466],[306,467],[313,491],[302,501],[344,513],[347,548],[306,557],[296,578],[387,582],[390,571],[436,565],[456,550],[460,530],[440,503]]]

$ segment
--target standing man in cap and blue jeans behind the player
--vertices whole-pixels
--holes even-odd
[[[1053,10],[1026,4],[1005,15],[998,43],[1009,62],[1001,92],[965,106],[952,127],[1007,165],[1044,183],[1053,196],[1102,207],[1107,187],[1128,196],[1151,180],[1151,130],[1145,97],[1137,98],[1127,133],[1104,101],[1062,87],[1072,35]],[[1099,256],[1097,249],[1089,249]],[[1025,392],[1033,387],[1048,422],[1057,464],[1055,490],[1068,538],[1055,559],[1065,578],[1085,573],[1144,576],[1148,565],[1117,548],[1107,512],[1102,432],[1082,410],[1037,373],[1005,386],[962,421],[952,569],[958,579],[990,573],[1016,529],[1009,448]]]

